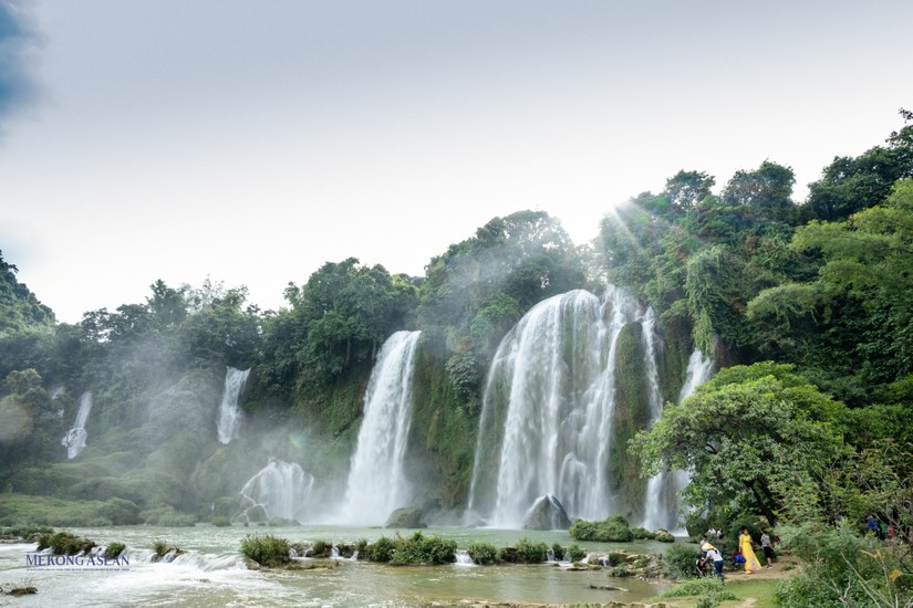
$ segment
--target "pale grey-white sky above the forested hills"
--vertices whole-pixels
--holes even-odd
[[[0,250],[58,321],[158,279],[284,305],[491,218],[578,243],[678,170],[797,200],[913,108],[909,0],[0,0]],[[717,188],[717,189],[718,189]]]

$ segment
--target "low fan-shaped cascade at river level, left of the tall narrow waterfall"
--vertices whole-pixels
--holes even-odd
[[[271,458],[269,464],[241,488],[245,521],[263,522],[273,517],[301,522],[308,516],[308,499],[314,478],[293,462]]]

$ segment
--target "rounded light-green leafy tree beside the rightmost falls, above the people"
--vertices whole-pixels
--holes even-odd
[[[844,407],[791,366],[759,363],[720,370],[631,441],[644,475],[684,470],[695,507],[746,502],[771,525],[790,515],[786,488],[816,484],[819,465],[844,450]]]

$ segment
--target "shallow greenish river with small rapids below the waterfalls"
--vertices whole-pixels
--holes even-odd
[[[35,566],[28,562],[34,544],[0,545],[0,586],[33,586],[32,596],[0,596],[0,606],[422,606],[461,599],[529,602],[642,601],[667,588],[666,583],[611,578],[605,572],[568,572],[554,564],[396,567],[349,559],[332,567],[312,569],[261,569],[245,567],[239,553],[248,534],[272,534],[292,543],[328,541],[354,544],[395,531],[339,526],[297,527],[155,527],[120,526],[71,528],[100,545],[121,542],[127,546],[128,564],[90,567]],[[573,543],[567,532],[499,531],[487,528],[429,528],[427,536],[453,538],[459,548],[471,541],[508,546],[526,537],[551,546]],[[412,531],[402,534],[411,535]],[[153,543],[180,547],[184,555],[170,563],[151,562]],[[635,543],[578,543],[584,549],[604,553],[623,548],[636,553],[661,553],[668,545]],[[303,562],[302,565],[326,560]],[[594,589],[616,586],[626,590]]]

